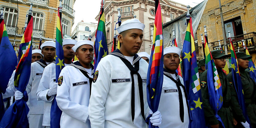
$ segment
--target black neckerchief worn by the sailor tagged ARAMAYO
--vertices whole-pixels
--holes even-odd
[[[178,93],[179,93],[179,104],[180,104],[180,118],[181,118],[181,122],[184,122],[184,105],[183,105],[183,97],[182,97],[182,92],[181,92],[181,88],[180,86],[183,88],[184,90],[184,93],[185,93],[185,98],[186,98],[186,104],[188,106],[188,103],[187,103],[187,93],[185,91],[185,86],[181,84],[181,81],[180,81],[180,78],[179,78],[179,75],[178,73],[175,72],[175,75],[176,75],[176,78],[174,79],[171,74],[166,70],[166,69],[163,69],[163,74],[170,78],[172,81],[175,82],[177,88],[178,88]],[[188,107],[188,111],[189,111],[189,107]]]

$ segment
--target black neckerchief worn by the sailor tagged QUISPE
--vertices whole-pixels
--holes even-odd
[[[124,64],[128,67],[128,69],[131,71],[131,77],[132,77],[132,99],[131,99],[131,108],[132,108],[132,122],[134,120],[134,115],[135,115],[135,92],[134,92],[134,74],[137,74],[138,76],[138,83],[139,83],[139,100],[140,100],[140,111],[141,111],[141,115],[143,117],[143,119],[145,120],[145,115],[144,115],[144,101],[143,101],[143,86],[142,86],[142,79],[138,73],[139,71],[139,60],[141,59],[141,57],[139,57],[137,54],[134,55],[133,58],[133,62],[132,65],[134,65],[134,67],[131,65],[131,63],[124,57],[124,55],[119,51],[119,49],[113,51],[112,53],[110,53],[111,55],[117,56],[119,57]]]

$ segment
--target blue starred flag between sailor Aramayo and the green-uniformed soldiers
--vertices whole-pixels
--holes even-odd
[[[188,94],[187,101],[189,104],[189,128],[205,128],[206,126],[191,17],[188,22],[183,43],[182,57],[182,75],[184,86]]]

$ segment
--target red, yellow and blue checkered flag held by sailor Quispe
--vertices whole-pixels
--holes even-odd
[[[163,84],[163,31],[159,0],[155,0],[155,11],[153,45],[147,71],[147,103],[153,112],[158,109]],[[155,127],[149,121],[151,116],[146,119],[149,128]]]

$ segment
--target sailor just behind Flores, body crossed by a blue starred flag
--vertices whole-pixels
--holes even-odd
[[[63,40],[65,66],[70,65],[72,63],[72,59],[75,57],[75,52],[72,50],[72,47],[76,43],[77,41],[71,38]],[[50,127],[50,111],[52,106],[52,100],[54,98],[54,95],[57,94],[58,83],[56,83],[55,67],[55,62],[52,62],[44,68],[44,72],[36,92],[37,100],[44,101],[43,126],[45,127]]]

